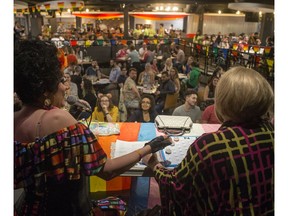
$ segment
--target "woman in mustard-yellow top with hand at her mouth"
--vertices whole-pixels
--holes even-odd
[[[97,106],[92,113],[92,120],[100,122],[118,122],[119,110],[113,105],[111,94],[98,94]]]

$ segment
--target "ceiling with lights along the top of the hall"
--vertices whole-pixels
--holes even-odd
[[[21,0],[28,3],[28,6],[34,6],[38,3],[47,2],[45,0]],[[154,11],[157,6],[177,6],[178,12],[186,13],[235,13],[237,10],[241,12],[273,12],[274,0],[82,0],[85,4],[84,8],[90,11],[123,11],[123,8],[131,12],[149,12]],[[19,2],[19,1],[18,1]],[[247,6],[247,2],[252,5]],[[228,7],[229,3],[232,3]],[[245,6],[246,4],[246,6]],[[242,6],[243,5],[243,6]],[[254,5],[254,6],[253,6]],[[267,11],[265,9],[268,8]],[[264,10],[264,11],[263,11]]]

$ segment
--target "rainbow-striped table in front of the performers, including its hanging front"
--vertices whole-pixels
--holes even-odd
[[[108,157],[111,157],[111,147],[116,140],[124,141],[145,141],[151,140],[155,136],[161,135],[155,128],[154,123],[132,123],[120,122],[120,134],[111,136],[99,136],[98,141]],[[184,136],[201,136],[205,132],[216,131],[220,125],[197,124],[194,123],[189,134]],[[128,153],[128,152],[127,152]],[[143,177],[142,177],[143,176]],[[120,191],[130,190],[129,207],[130,215],[134,215],[134,211],[145,208],[151,208],[155,204],[160,204],[159,187],[152,172],[148,168],[132,167],[121,177],[116,177],[110,181],[104,181],[96,176],[90,178],[90,192],[99,191]]]

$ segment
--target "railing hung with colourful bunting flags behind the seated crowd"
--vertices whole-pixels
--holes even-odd
[[[231,66],[242,65],[252,68],[270,82],[274,82],[274,48],[258,45],[241,45],[242,51],[239,50],[240,44],[234,43],[229,49],[222,49],[213,46],[193,43],[192,38],[155,38],[155,39],[112,39],[112,40],[95,40],[95,41],[75,41],[71,40],[70,46],[81,46],[85,49],[86,55],[96,59],[98,63],[108,63],[110,59],[115,59],[116,53],[124,44],[134,44],[136,50],[139,50],[143,43],[150,46],[151,50],[156,50],[160,44],[160,50],[163,52],[165,47],[170,49],[172,43],[180,45],[185,52],[186,57],[193,56],[201,62],[201,69],[204,74],[209,74],[209,66],[222,66],[227,70]]]

